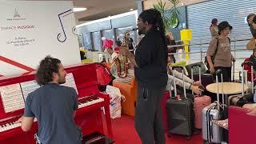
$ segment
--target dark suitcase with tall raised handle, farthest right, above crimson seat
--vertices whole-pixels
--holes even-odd
[[[228,103],[229,106],[240,106],[242,107],[244,104],[246,103],[251,103],[254,102],[254,79],[253,79],[253,73],[251,73],[251,90],[252,90],[252,94],[245,94],[244,91],[244,75],[243,75],[243,66],[244,65],[250,65],[251,66],[251,70],[254,70],[253,68],[253,63],[252,62],[242,62],[242,94],[235,94],[235,95],[230,95],[228,98]],[[234,78],[233,78],[234,79]]]

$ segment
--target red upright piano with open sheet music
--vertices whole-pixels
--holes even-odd
[[[112,125],[110,119],[110,97],[98,90],[96,64],[79,64],[76,66],[66,67],[67,74],[73,74],[75,86],[78,90],[78,110],[74,117],[78,126],[82,127],[83,136],[98,132],[113,138]],[[20,85],[22,82],[34,80],[34,74],[22,76],[0,77],[0,90],[2,87]],[[22,93],[23,94],[23,93]],[[5,95],[5,98],[2,97]],[[24,108],[19,109],[17,106],[10,106],[15,101],[6,101],[6,95],[0,93],[0,143],[12,144],[35,143],[34,134],[38,131],[38,124],[34,122],[29,132],[23,132],[20,123],[14,123],[23,114]],[[3,104],[5,102],[5,105]],[[7,104],[6,104],[7,103]],[[15,110],[17,109],[17,110]]]

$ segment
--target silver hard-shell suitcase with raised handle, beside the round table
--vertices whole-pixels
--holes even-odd
[[[222,71],[221,70],[216,71],[217,86],[218,86],[218,74],[221,74],[221,78],[222,78]],[[221,143],[222,142],[222,128],[211,122],[212,120],[222,119],[224,110],[220,108],[219,99],[220,99],[219,93],[217,93],[218,101],[211,103],[210,106],[206,106],[202,110],[202,138],[204,143]],[[224,106],[224,101],[225,100],[222,97],[223,106]]]

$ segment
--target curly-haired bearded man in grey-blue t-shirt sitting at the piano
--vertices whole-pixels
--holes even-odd
[[[28,95],[24,114],[18,120],[22,130],[28,131],[37,118],[38,143],[81,143],[81,130],[74,123],[78,97],[74,88],[59,85],[66,82],[65,77],[66,71],[57,58],[47,56],[40,62],[36,81],[41,87]]]

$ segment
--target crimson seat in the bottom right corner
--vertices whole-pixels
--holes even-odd
[[[247,113],[248,109],[238,106],[229,107],[230,144],[256,143],[256,116]]]

